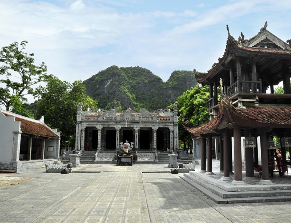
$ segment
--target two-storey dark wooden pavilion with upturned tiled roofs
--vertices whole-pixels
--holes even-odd
[[[272,155],[270,151],[274,152],[272,136],[280,139],[291,136],[291,40],[287,41],[288,44],[266,28],[267,22],[254,37],[244,39],[241,33],[235,40],[227,26],[228,39],[223,57],[205,75],[196,76],[198,82],[210,86],[207,108],[211,121],[196,127],[184,123],[192,137],[202,137],[201,171],[208,175],[213,172],[212,145],[207,141],[211,142],[212,137],[220,139],[221,179],[226,181],[230,180],[229,174],[233,170],[233,146],[235,184],[242,182],[242,151],[245,150],[246,177],[254,176],[254,162],[258,163],[257,147],[246,145],[242,148],[242,144],[245,145],[242,143],[243,136],[255,139],[256,145],[260,136],[261,184],[271,183],[269,158]],[[280,82],[283,82],[284,93],[276,94],[274,85]],[[219,100],[218,86],[221,89]],[[285,147],[281,150],[283,159],[286,159]]]

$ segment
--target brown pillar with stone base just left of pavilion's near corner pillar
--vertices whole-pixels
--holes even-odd
[[[223,181],[232,181],[231,177],[229,177],[230,172],[230,162],[229,162],[229,156],[230,156],[230,144],[229,144],[229,138],[231,139],[231,135],[229,133],[229,130],[224,130],[223,133],[223,177],[221,177],[221,180]]]

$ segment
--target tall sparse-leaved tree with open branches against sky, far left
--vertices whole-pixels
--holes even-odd
[[[0,87],[0,105],[4,105],[7,111],[12,106],[14,111],[20,112],[21,103],[27,101],[25,95],[33,94],[34,90],[31,86],[47,81],[52,76],[47,75],[44,62],[36,66],[34,54],[23,52],[26,43],[27,41],[22,41],[20,44],[14,42],[2,47],[0,51],[0,75],[6,77],[0,80],[0,83],[6,85],[6,87]]]

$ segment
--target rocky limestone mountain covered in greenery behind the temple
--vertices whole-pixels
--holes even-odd
[[[136,111],[164,109],[197,84],[193,71],[174,71],[163,82],[159,76],[139,66],[111,66],[83,83],[88,96],[98,100],[99,108],[125,110],[130,107]]]

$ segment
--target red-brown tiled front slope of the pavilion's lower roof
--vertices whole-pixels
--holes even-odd
[[[291,125],[290,107],[246,107],[237,113],[260,123]]]

